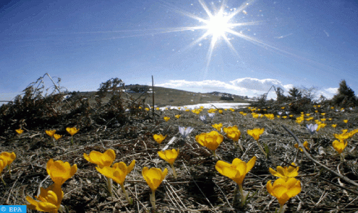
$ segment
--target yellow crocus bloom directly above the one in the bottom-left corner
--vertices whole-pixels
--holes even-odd
[[[72,178],[77,172],[77,165],[70,165],[68,162],[62,160],[53,161],[51,158],[48,160],[46,170],[50,178],[55,182],[56,185],[63,185],[63,183]]]

